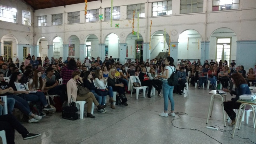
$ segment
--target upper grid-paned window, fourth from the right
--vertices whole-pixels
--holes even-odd
[[[145,17],[145,4],[134,4],[134,5],[128,5],[127,6],[127,18],[131,19],[133,16],[133,10],[135,10],[134,17],[137,18],[139,12],[139,17]]]

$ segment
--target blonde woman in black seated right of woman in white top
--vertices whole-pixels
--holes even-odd
[[[125,68],[125,67],[122,67],[122,68]],[[118,92],[118,95],[122,101],[122,105],[128,106],[127,98],[124,93],[124,84],[119,82],[115,74],[116,74],[116,70],[113,68],[110,69],[109,76],[108,76],[108,86],[111,86],[114,92]]]

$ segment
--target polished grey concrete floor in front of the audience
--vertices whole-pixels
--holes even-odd
[[[176,114],[175,117],[158,116],[164,109],[163,97],[157,95],[139,99],[135,95],[127,95],[128,106],[116,106],[111,109],[107,103],[107,113],[100,114],[94,109],[95,119],[84,117],[70,121],[61,118],[61,113],[54,113],[44,117],[39,123],[22,123],[29,132],[41,133],[40,137],[22,140],[21,135],[15,132],[15,142],[18,144],[241,144],[256,142],[256,132],[253,128],[252,115],[249,124],[242,122],[241,129],[236,129],[234,139],[229,132],[207,129],[206,126],[218,125],[221,129],[232,130],[224,127],[221,104],[215,102],[212,118],[206,123],[210,102],[210,90],[195,89],[189,86],[189,93],[174,94],[175,112],[187,113],[187,116]],[[157,94],[157,92],[156,92]],[[227,96],[227,100],[231,96]],[[87,106],[85,105],[85,110]],[[170,110],[170,102],[168,109]],[[86,115],[86,112],[84,112]],[[228,123],[227,123],[228,124]],[[179,127],[179,128],[177,128]],[[186,128],[186,129],[180,129]],[[202,132],[196,130],[197,129]],[[233,131],[231,131],[233,133]],[[209,136],[207,136],[207,135]],[[218,140],[214,140],[214,139]]]

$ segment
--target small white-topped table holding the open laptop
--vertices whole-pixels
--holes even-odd
[[[223,102],[226,101],[226,95],[227,94],[218,94],[216,90],[212,90],[211,92],[209,92],[209,94],[212,94],[212,96],[211,96],[211,101],[210,101],[210,104],[209,104],[208,115],[207,115],[207,118],[206,118],[207,119],[206,124],[208,124],[208,118],[210,116],[210,111],[211,111],[211,116],[210,117],[212,117],[212,109],[213,109],[214,101],[216,100],[216,101],[221,101],[224,127],[226,127],[225,110],[224,110]]]

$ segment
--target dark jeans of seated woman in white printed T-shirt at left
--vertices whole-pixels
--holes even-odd
[[[21,93],[18,96],[20,96],[21,98],[27,101],[32,101],[32,102],[40,101],[43,106],[48,105],[43,92],[36,92],[36,93],[29,93],[29,94]]]

